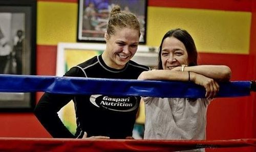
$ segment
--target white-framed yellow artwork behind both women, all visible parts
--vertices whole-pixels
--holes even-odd
[[[70,68],[76,66],[77,64],[82,63],[96,55],[102,54],[105,47],[105,44],[60,42],[57,47],[56,76],[63,76]],[[150,66],[153,69],[157,66],[157,49],[157,47],[139,45],[138,51],[132,60],[137,63]],[[140,108],[143,107],[144,106],[141,106]],[[143,111],[143,109],[140,111]],[[76,118],[74,102],[71,101],[62,107],[58,112],[58,115],[69,131],[75,134]],[[136,121],[141,121],[141,119],[144,119],[143,112]],[[140,139],[139,137],[136,138]]]

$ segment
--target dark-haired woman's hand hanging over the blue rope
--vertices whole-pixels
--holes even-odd
[[[205,88],[206,90],[205,97],[207,99],[212,99],[217,95],[217,93],[219,92],[220,86],[214,79],[208,78],[206,76],[203,76],[201,74],[196,74],[193,72],[190,72],[190,74],[191,74],[191,80],[193,82]]]

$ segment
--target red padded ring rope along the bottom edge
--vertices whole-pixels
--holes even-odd
[[[0,138],[0,151],[81,151],[166,152],[196,148],[232,148],[256,146],[256,139],[237,140],[87,140],[46,138]]]

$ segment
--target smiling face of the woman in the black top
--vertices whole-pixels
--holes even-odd
[[[135,29],[116,29],[114,35],[105,34],[106,50],[102,58],[107,66],[122,69],[134,56],[139,45],[139,32]]]

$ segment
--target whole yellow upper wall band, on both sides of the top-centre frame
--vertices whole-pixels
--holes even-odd
[[[76,42],[77,3],[38,2],[37,44]],[[166,31],[186,29],[199,52],[249,54],[251,12],[148,7],[148,46],[159,46]]]

